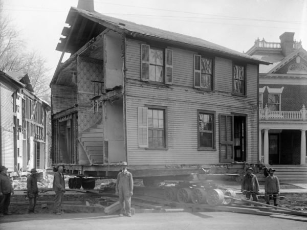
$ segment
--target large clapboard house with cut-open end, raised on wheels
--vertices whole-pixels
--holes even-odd
[[[123,160],[134,169],[259,162],[267,61],[73,7],[66,22],[57,50],[71,57],[50,83],[54,163],[73,172]]]

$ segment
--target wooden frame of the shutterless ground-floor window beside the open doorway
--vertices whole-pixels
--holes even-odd
[[[212,121],[212,148],[211,147],[201,147],[201,140],[200,140],[200,114],[212,114],[213,121]],[[209,110],[197,110],[197,146],[199,151],[216,151],[216,112],[209,111]]]

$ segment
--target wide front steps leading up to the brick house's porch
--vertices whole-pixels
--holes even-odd
[[[307,182],[307,165],[272,165],[279,182]]]

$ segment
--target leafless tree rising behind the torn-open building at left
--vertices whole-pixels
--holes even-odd
[[[0,12],[2,3],[0,0]],[[36,52],[26,51],[26,44],[13,22],[0,13],[0,70],[27,73],[37,97],[50,103],[50,68]]]

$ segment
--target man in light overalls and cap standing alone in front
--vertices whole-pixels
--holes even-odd
[[[117,175],[115,194],[119,196],[120,216],[131,217],[131,196],[133,195],[133,177],[123,162],[122,171]]]

